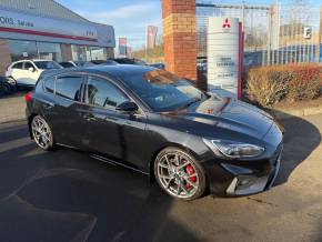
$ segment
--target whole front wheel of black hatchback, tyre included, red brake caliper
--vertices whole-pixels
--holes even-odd
[[[177,148],[167,148],[158,154],[154,175],[159,185],[175,199],[195,200],[205,190],[203,168],[191,154]]]

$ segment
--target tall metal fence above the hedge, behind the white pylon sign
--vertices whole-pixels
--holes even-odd
[[[320,7],[308,4],[229,4],[197,1],[198,57],[207,58],[207,21],[212,16],[243,23],[243,65],[320,61]]]

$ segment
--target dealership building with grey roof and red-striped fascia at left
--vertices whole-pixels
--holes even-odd
[[[113,57],[112,26],[91,22],[53,0],[0,1],[0,74],[21,59],[101,60]]]

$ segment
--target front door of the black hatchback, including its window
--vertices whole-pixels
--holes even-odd
[[[139,113],[123,113],[115,108],[130,98],[111,80],[89,77],[82,110],[88,122],[89,148],[91,151],[141,167],[140,154],[133,141],[140,142],[145,130],[145,118]]]

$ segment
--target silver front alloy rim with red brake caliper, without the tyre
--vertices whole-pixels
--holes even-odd
[[[197,193],[198,170],[188,155],[178,151],[167,153],[157,165],[160,183],[170,194],[179,199],[189,199]]]

